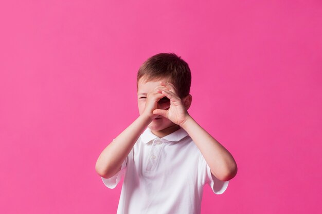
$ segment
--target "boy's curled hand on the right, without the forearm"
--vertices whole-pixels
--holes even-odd
[[[183,101],[177,95],[177,90],[172,83],[163,83],[160,85],[166,86],[169,90],[160,90],[159,93],[163,93],[170,100],[170,107],[168,110],[155,109],[154,114],[158,114],[168,118],[170,121],[177,125],[182,125],[188,118],[189,113],[183,104]]]

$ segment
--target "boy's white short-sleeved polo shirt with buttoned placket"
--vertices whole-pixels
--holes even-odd
[[[147,127],[121,170],[112,178],[101,178],[113,189],[124,173],[117,214],[198,214],[204,185],[222,194],[229,183],[211,176],[202,153],[183,128],[158,138]]]

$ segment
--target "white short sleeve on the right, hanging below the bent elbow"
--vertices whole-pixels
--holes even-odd
[[[200,155],[199,159],[199,168],[199,174],[203,183],[207,183],[211,187],[212,191],[216,194],[224,193],[224,191],[228,187],[229,181],[221,181],[218,178],[214,177],[211,174],[210,167],[202,154]]]

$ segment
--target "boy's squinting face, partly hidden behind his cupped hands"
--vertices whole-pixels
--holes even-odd
[[[169,82],[169,79],[163,78],[160,80],[155,80],[155,81],[152,80],[149,82],[144,82],[142,81],[142,78],[141,78],[138,81],[137,104],[138,104],[140,115],[143,113],[145,109],[146,97],[147,97],[146,93],[149,93],[158,85],[161,86],[160,81],[167,83]],[[169,109],[169,107],[170,107],[170,101],[166,103],[159,103],[157,108],[167,110]],[[160,116],[160,119],[152,120],[152,122],[148,125],[148,127],[153,131],[162,131],[165,128],[168,128],[170,126],[176,126],[176,124],[170,121],[169,119],[165,118],[164,116]]]

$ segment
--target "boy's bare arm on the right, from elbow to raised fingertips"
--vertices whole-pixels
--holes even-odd
[[[228,181],[236,176],[237,165],[232,155],[218,141],[211,137],[188,113],[192,96],[184,98],[177,95],[177,90],[172,83],[163,83],[166,89],[159,93],[166,94],[170,99],[169,110],[155,109],[154,114],[162,115],[173,123],[180,125],[190,135],[196,146],[201,151],[213,176],[221,181]]]

